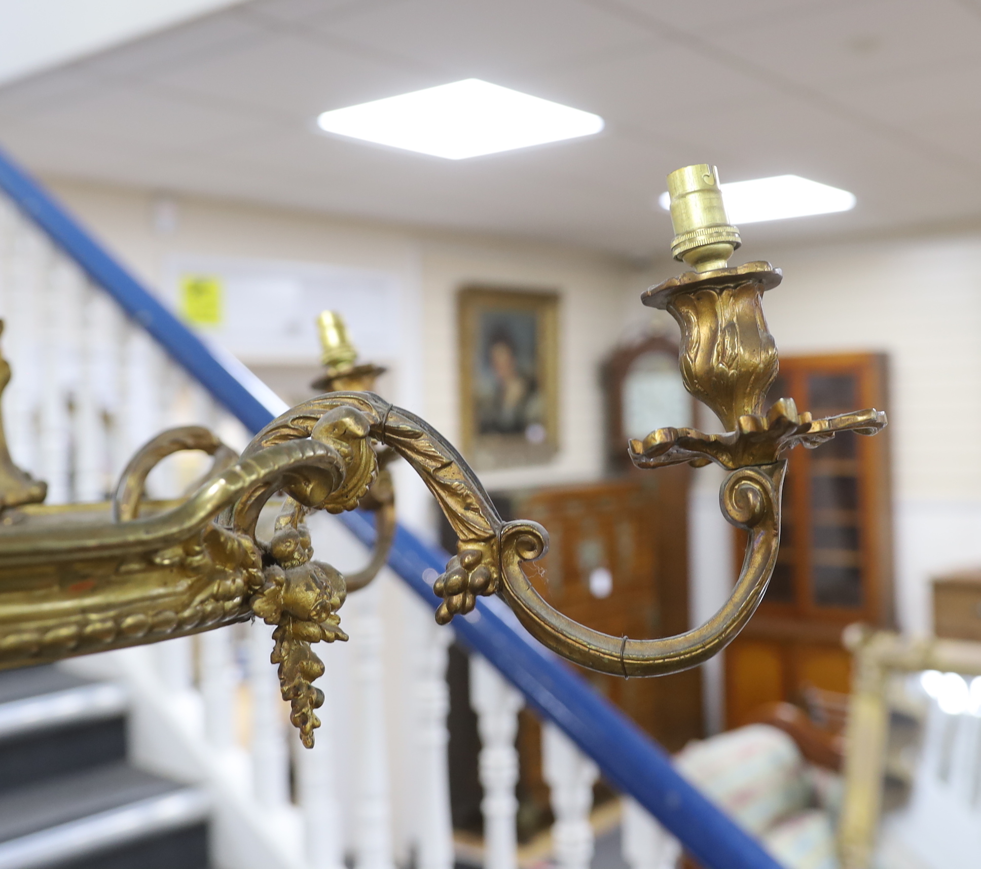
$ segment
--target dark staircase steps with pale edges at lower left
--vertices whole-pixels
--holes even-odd
[[[128,711],[113,683],[0,674],[0,869],[206,869],[208,796],[129,764]]]

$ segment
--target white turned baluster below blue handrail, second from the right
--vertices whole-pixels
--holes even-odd
[[[551,789],[552,851],[559,869],[589,869],[593,859],[593,785],[599,772],[553,724],[542,726],[542,774]]]

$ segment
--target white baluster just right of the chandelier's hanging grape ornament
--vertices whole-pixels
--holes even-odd
[[[382,619],[373,583],[352,595],[350,642],[353,657],[357,761],[354,851],[357,869],[394,869],[382,672]]]

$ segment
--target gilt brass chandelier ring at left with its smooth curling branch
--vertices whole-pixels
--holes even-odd
[[[180,637],[261,615],[282,629],[288,673],[299,672],[297,667],[312,672],[302,664],[304,643],[341,639],[336,607],[343,581],[329,565],[312,565],[309,577],[267,565],[254,536],[216,516],[237,501],[257,503],[277,490],[314,507],[336,508],[333,494],[325,496],[328,489],[346,499],[351,479],[371,476],[355,464],[361,453],[344,446],[311,439],[275,444],[209,480],[179,506],[130,522],[100,520],[99,510],[78,511],[74,522],[52,522],[61,514],[48,508],[36,519],[0,527],[0,668]],[[368,461],[374,463],[370,449]],[[66,568],[75,581],[71,593],[62,580]],[[278,578],[284,580],[280,586]],[[274,604],[282,615],[272,612]]]

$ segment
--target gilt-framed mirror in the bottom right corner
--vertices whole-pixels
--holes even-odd
[[[838,828],[843,867],[866,869],[884,849],[905,860],[911,849],[914,860],[894,865],[968,869],[981,844],[981,643],[858,625],[845,640],[855,680]],[[897,804],[888,792],[891,761],[897,766],[890,711],[902,711],[916,691],[927,723],[921,737],[905,740],[899,759],[909,765],[910,788]]]

